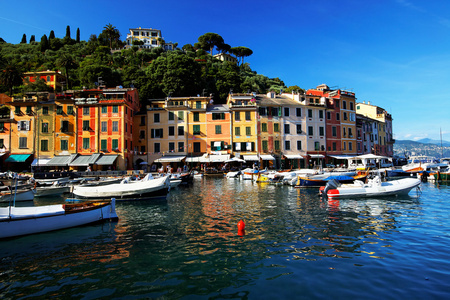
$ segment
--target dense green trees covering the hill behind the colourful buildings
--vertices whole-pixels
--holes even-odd
[[[42,83],[32,86],[21,80],[24,72],[60,70],[66,77],[64,89],[94,88],[101,78],[107,87],[136,87],[142,100],[171,96],[213,95],[216,103],[223,103],[230,91],[266,93],[286,90],[279,78],[270,79],[252,71],[246,56],[253,52],[246,47],[226,44],[215,33],[206,33],[194,46],[164,51],[163,47],[140,49],[139,43],[124,49],[119,31],[111,24],[88,41],[70,36],[55,37],[52,30],[40,42],[23,35],[20,44],[9,44],[0,38],[0,92],[20,95],[46,89]],[[160,41],[163,43],[163,41]],[[240,64],[220,61],[213,50],[235,55]],[[118,50],[116,50],[118,49]],[[208,53],[209,52],[209,53]],[[298,88],[296,86],[296,88]]]

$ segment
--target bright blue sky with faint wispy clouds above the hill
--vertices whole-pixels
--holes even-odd
[[[81,39],[111,23],[122,34],[155,28],[194,44],[207,32],[253,50],[251,68],[286,85],[326,83],[355,92],[394,118],[396,139],[450,140],[450,1],[163,0],[4,1],[0,37],[40,41],[55,31]]]

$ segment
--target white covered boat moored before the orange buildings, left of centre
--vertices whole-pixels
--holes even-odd
[[[74,186],[73,194],[79,199],[111,199],[130,200],[166,196],[170,189],[170,177],[153,178],[149,173],[143,179],[102,186]]]

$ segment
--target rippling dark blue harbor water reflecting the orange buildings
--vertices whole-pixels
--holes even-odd
[[[166,200],[117,203],[117,222],[3,240],[0,298],[450,298],[450,185],[317,193],[195,179]]]

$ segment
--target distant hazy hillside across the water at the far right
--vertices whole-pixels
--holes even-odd
[[[433,140],[430,140],[433,141]],[[436,141],[434,141],[436,142]],[[410,140],[396,140],[394,144],[394,155],[411,156],[411,155],[429,155],[435,157],[450,157],[450,142],[442,141],[441,144],[423,143]]]

